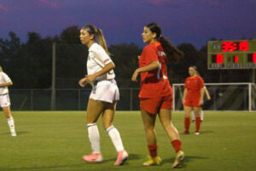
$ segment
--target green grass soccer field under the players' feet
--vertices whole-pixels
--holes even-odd
[[[102,163],[86,163],[90,153],[85,111],[13,111],[18,136],[11,137],[0,116],[0,171],[166,171],[172,170],[175,152],[159,121],[156,123],[160,166],[144,167],[148,150],[138,111],[118,111],[114,125],[130,153],[124,166],[114,167],[116,152],[108,134],[101,134]],[[252,171],[256,169],[256,113],[206,111],[199,136],[182,135],[184,167],[189,171]],[[173,113],[173,123],[183,131],[183,113]],[[195,130],[195,123],[190,125]]]

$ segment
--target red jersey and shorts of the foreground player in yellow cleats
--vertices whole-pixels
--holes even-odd
[[[172,109],[172,87],[167,77],[166,54],[159,42],[149,43],[139,59],[139,66],[148,66],[153,61],[160,68],[141,73],[139,93],[141,109],[155,114],[160,109]]]

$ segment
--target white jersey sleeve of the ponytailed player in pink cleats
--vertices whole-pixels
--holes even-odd
[[[104,48],[96,47],[92,49],[92,53],[96,63],[102,67],[106,66],[108,63],[112,62],[109,55],[106,53]]]

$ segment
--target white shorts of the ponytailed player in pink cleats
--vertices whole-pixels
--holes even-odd
[[[95,83],[91,89],[90,99],[108,103],[119,100],[119,88],[115,80],[102,80]]]

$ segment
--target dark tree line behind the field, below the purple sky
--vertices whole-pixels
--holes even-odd
[[[0,38],[0,65],[14,82],[13,88],[51,88],[53,43],[56,44],[56,88],[79,88],[79,78],[86,74],[88,52],[80,43],[78,26],[67,27],[55,37],[28,32],[26,43],[21,43],[13,31],[8,39]],[[119,87],[138,87],[138,83],[131,82],[131,75],[138,67],[137,56],[143,48],[135,43],[108,48],[116,65]],[[169,64],[171,83],[183,83],[192,65],[198,67],[206,83],[251,82],[249,70],[207,70],[207,46],[197,50],[191,43],[182,43],[177,48],[185,55],[177,65]]]

